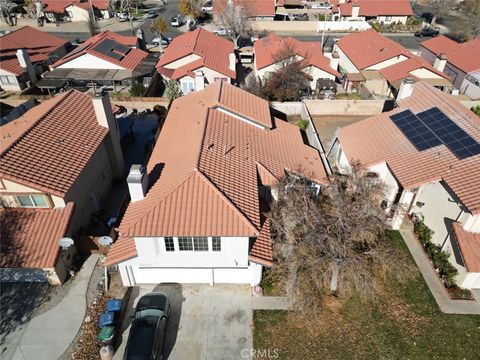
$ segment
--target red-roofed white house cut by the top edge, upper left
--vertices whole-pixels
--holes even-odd
[[[47,21],[88,21],[93,13],[97,19],[112,17],[108,0],[40,0]]]

